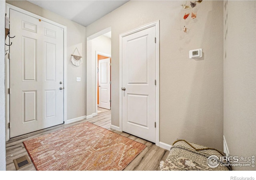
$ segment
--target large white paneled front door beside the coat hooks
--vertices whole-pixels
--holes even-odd
[[[63,28],[10,9],[10,138],[63,123]],[[61,89],[62,88],[62,89]]]

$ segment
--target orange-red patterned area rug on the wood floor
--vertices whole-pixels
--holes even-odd
[[[23,144],[37,170],[123,170],[146,145],[80,123]]]

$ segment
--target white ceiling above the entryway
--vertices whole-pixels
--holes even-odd
[[[128,0],[28,0],[82,26],[88,26]]]

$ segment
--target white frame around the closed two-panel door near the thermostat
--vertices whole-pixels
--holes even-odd
[[[119,35],[119,131],[122,131],[122,38],[141,30],[156,27],[156,146],[159,146],[159,20]]]

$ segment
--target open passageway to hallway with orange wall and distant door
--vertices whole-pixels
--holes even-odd
[[[109,62],[104,62],[106,59],[109,59]],[[111,109],[111,67],[107,67],[110,66],[110,60],[111,27],[87,38],[87,119]],[[101,77],[98,76],[100,70],[102,70]],[[106,77],[107,72],[109,77]],[[103,75],[104,73],[106,76]],[[102,84],[101,81],[104,83]],[[108,102],[109,108],[101,107],[100,102],[103,104]]]

